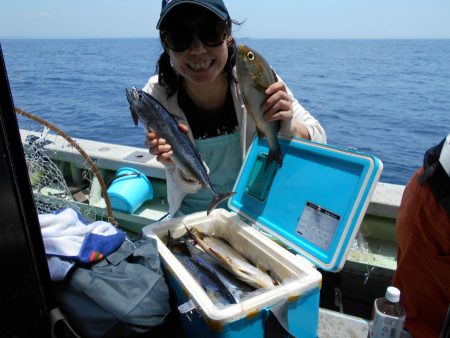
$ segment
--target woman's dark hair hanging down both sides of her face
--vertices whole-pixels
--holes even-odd
[[[231,34],[231,27],[233,23],[240,24],[239,22],[233,21],[231,19],[228,19],[226,21],[227,34]],[[183,78],[174,71],[172,65],[170,64],[170,56],[168,53],[169,47],[167,47],[164,43],[164,38],[162,35],[163,29],[164,28],[161,27],[161,30],[159,31],[159,38],[164,50],[161,53],[156,64],[156,73],[158,74],[158,84],[165,87],[167,97],[170,97],[177,92],[178,88],[182,84]],[[231,37],[231,42],[228,46],[228,59],[224,67],[224,73],[228,81],[231,81],[233,79],[232,69],[235,65],[236,50],[236,41],[233,37]]]

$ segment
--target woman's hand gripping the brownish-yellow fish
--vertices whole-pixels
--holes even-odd
[[[266,121],[292,119],[292,101],[283,82],[272,83],[267,87],[266,94],[268,97],[261,106]]]

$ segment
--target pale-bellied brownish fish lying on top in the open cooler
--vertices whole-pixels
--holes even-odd
[[[221,238],[205,235],[196,228],[187,228],[191,237],[206,253],[214,257],[217,262],[233,273],[238,279],[254,288],[266,288],[274,285],[272,277],[251,264],[244,256],[238,253],[231,245]]]

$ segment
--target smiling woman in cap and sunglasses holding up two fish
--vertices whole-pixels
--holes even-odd
[[[194,141],[219,193],[232,190],[256,131],[236,81],[231,26],[222,0],[164,0],[157,24],[164,52],[158,75],[144,87]],[[268,87],[266,94],[261,108],[268,121],[281,120],[282,133],[326,142],[319,122],[282,81]],[[150,153],[166,168],[170,214],[205,210],[211,193],[175,166],[170,144],[153,132],[147,141]]]

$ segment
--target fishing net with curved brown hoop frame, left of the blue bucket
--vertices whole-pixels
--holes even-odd
[[[116,224],[105,183],[80,145],[36,115],[19,108],[16,114],[38,214],[72,208],[87,220]]]

